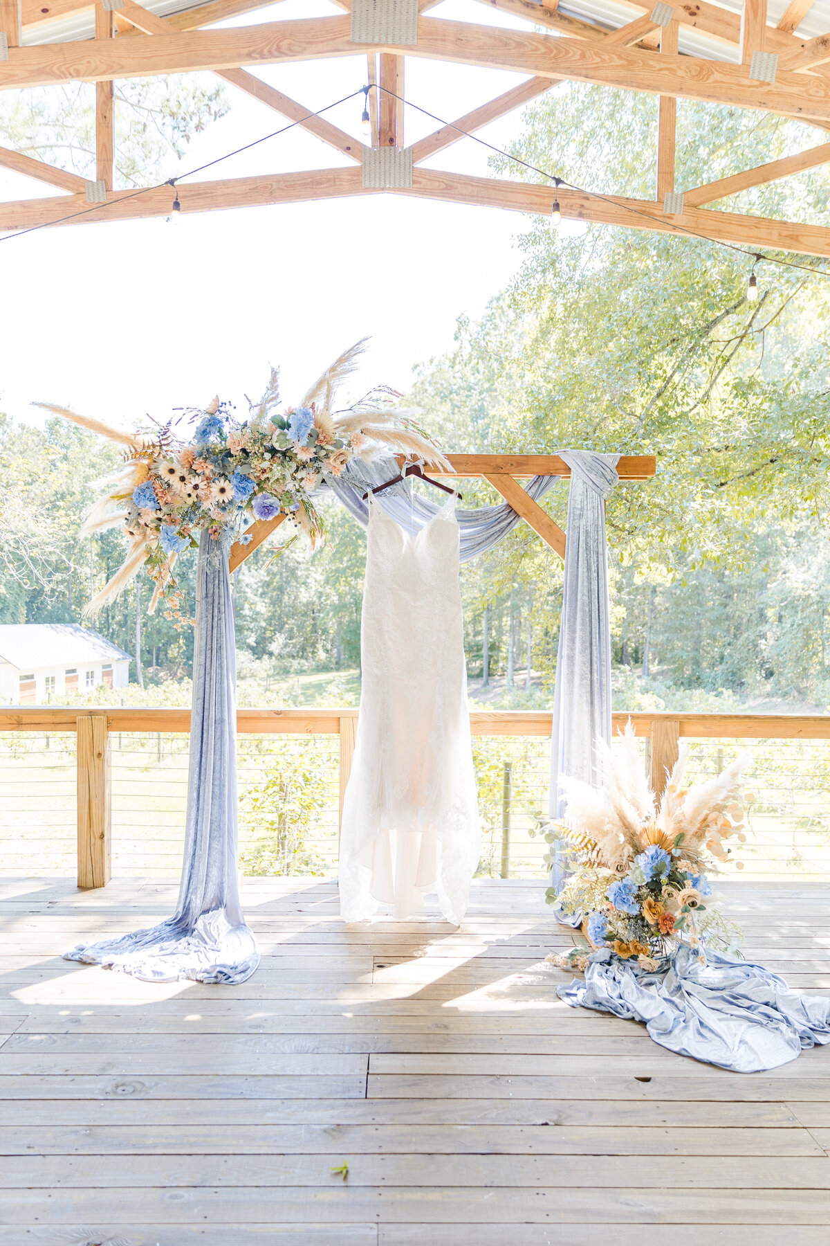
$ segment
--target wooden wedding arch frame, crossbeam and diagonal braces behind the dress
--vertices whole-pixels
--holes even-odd
[[[564,459],[560,459],[559,455],[447,455],[447,457],[454,467],[454,476],[479,477],[489,481],[510,503],[516,515],[520,515],[534,532],[538,532],[543,541],[546,541],[551,549],[556,551],[560,558],[565,557],[565,533],[519,483],[521,477],[570,476],[571,470]],[[399,461],[403,462],[403,459]],[[648,480],[650,476],[655,475],[655,471],[653,455],[626,455],[617,464],[617,475],[621,481]],[[429,468],[429,475],[444,476],[447,473]],[[249,543],[243,546],[238,542],[231,547],[230,571],[241,566],[245,558],[250,557],[254,549],[286,518],[286,515],[277,515],[274,520],[259,520],[254,523],[249,528]]]

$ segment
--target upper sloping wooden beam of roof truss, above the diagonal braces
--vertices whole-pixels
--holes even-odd
[[[348,29],[348,17],[312,17],[182,35],[16,47],[9,61],[0,62],[0,87],[352,56],[360,45],[350,41]],[[830,121],[830,88],[819,78],[779,71],[775,82],[757,82],[749,78],[747,66],[689,56],[653,56],[641,49],[605,49],[576,39],[436,17],[421,19],[413,47],[380,50]]]

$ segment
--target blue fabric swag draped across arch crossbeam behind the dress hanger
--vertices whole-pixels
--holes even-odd
[[[377,488],[385,481],[392,480],[398,470],[392,457],[375,459],[372,462],[352,459],[342,476],[332,476],[326,483],[348,513],[366,527],[368,502],[363,501],[362,495],[367,488]],[[528,495],[538,502],[555,483],[555,476],[534,476],[528,483]],[[447,497],[437,490],[434,501],[431,497],[422,497],[413,490],[411,481],[402,481],[399,485],[385,488],[375,501],[413,537],[438,513]],[[499,506],[479,506],[470,511],[457,507],[455,518],[460,530],[462,562],[492,549],[521,521],[521,516],[516,515],[508,502]]]

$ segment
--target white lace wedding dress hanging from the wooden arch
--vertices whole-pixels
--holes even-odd
[[[370,503],[363,684],[343,802],[340,908],[347,922],[437,892],[460,922],[479,857],[454,500],[409,538]]]

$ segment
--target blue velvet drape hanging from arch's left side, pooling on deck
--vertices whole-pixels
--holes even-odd
[[[80,943],[68,961],[166,982],[245,982],[259,964],[236,867],[236,650],[231,537],[202,533],[197,572],[184,868],[173,917],[121,938]]]

